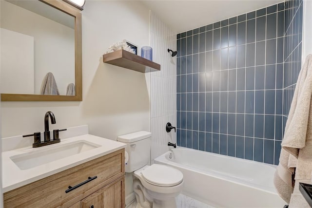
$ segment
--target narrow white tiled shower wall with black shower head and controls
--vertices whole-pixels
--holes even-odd
[[[151,73],[151,132],[152,161],[169,150],[167,143],[176,143],[176,133],[165,130],[167,122],[176,126],[176,57],[167,49],[176,51],[175,32],[152,12],[150,13],[150,45],[153,61],[161,65],[160,72]]]

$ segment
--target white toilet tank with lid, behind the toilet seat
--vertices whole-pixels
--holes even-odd
[[[133,172],[150,163],[151,132],[133,132],[117,137],[118,142],[127,144],[125,151],[129,155],[125,164],[126,172]]]

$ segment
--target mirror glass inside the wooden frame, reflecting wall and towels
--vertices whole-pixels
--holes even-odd
[[[39,0],[1,0],[1,94],[76,95],[75,17]]]

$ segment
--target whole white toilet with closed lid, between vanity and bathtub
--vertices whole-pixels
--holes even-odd
[[[133,173],[133,188],[142,208],[176,208],[175,197],[182,191],[181,171],[159,164],[148,166],[151,158],[151,132],[134,132],[118,136],[127,144],[125,171]]]

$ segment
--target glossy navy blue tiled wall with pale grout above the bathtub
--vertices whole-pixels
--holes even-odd
[[[301,31],[292,0],[177,34],[178,146],[277,165]]]

